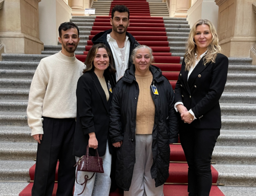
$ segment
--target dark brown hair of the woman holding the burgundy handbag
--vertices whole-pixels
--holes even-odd
[[[110,66],[108,68],[106,68],[106,70],[104,71],[104,74],[111,75],[111,74],[116,73],[116,70],[113,67],[113,58],[112,58],[110,49],[108,47],[106,47],[106,45],[104,45],[104,43],[97,43],[97,44],[93,45],[93,47],[89,50],[88,55],[86,57],[86,62],[84,62],[84,64],[86,64],[86,69],[84,69],[82,73],[86,73],[86,72],[94,70],[93,60],[94,60],[94,57],[95,57],[96,53],[98,52],[99,48],[104,48],[106,50],[106,52],[108,53],[109,59],[110,59]]]

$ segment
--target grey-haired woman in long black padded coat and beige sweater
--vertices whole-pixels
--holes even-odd
[[[174,91],[152,50],[138,46],[134,64],[117,82],[110,110],[110,138],[117,147],[116,182],[127,195],[163,195],[170,143],[178,141]]]

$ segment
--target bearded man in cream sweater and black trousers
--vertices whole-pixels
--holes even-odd
[[[28,124],[38,142],[32,196],[52,195],[58,160],[57,196],[72,195],[75,182],[76,85],[84,64],[74,55],[78,27],[62,23],[58,31],[62,49],[41,59],[29,92]]]

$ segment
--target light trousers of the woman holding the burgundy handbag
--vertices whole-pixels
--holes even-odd
[[[84,182],[84,176],[88,175],[89,178],[92,177],[93,172],[78,171],[77,172],[77,184],[75,182],[75,191],[74,196],[80,194],[79,196],[109,196],[111,179],[111,154],[109,151],[109,144],[106,142],[106,153],[102,158],[104,173],[95,173],[94,177],[89,180],[86,184],[86,189],[83,193],[80,194],[83,190],[84,185],[79,185]],[[76,161],[79,160],[79,157],[76,157]]]

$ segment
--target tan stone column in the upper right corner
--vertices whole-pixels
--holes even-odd
[[[256,44],[255,0],[215,0],[219,6],[218,34],[223,54],[249,57]]]

